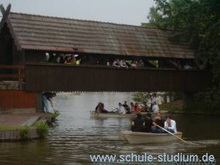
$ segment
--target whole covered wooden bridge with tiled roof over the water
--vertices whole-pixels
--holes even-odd
[[[1,11],[0,65],[25,68],[25,91],[193,92],[210,84],[211,74],[197,69],[173,31]],[[69,54],[81,64],[63,64]],[[117,58],[144,67],[112,67]]]

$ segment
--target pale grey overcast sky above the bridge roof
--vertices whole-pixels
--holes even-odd
[[[13,12],[141,25],[154,0],[0,0],[5,8],[9,3]]]

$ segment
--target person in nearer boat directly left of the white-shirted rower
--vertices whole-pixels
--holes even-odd
[[[157,125],[159,125],[164,128],[164,122],[165,120],[162,118],[161,113],[158,112],[153,121],[154,126],[152,127],[152,131],[154,133],[166,133],[163,129],[157,127]]]

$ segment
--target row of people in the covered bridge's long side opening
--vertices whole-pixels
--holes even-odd
[[[115,58],[114,56],[100,57],[95,55],[79,54],[75,51],[70,54],[46,53],[46,62],[72,65],[101,65],[116,68],[176,68],[176,69],[193,69],[192,62],[175,61],[159,64],[160,60],[146,60],[146,58]],[[165,64],[165,65],[164,65]]]

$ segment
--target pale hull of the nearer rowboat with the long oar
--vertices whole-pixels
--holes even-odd
[[[177,132],[175,135],[181,138],[182,132]],[[120,136],[121,139],[125,138],[130,144],[165,143],[178,140],[168,133],[122,131]]]

